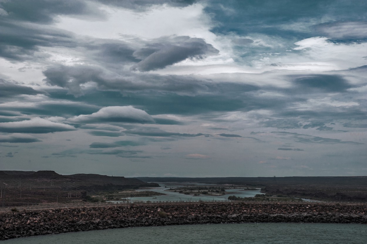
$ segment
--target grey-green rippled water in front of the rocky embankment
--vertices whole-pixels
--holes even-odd
[[[367,225],[240,223],[94,230],[32,236],[4,244],[366,244]]]

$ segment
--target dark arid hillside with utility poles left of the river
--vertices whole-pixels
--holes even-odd
[[[158,186],[135,178],[99,174],[61,175],[55,171],[0,171],[0,206],[80,202],[87,195]]]

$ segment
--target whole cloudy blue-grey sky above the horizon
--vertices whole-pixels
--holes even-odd
[[[367,175],[365,0],[0,0],[0,170]]]

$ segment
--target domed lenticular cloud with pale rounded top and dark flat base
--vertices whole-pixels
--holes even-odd
[[[68,119],[73,123],[103,123],[103,122],[128,122],[128,123],[155,123],[147,112],[132,106],[110,106],[101,108],[98,112],[88,115],[78,115]]]

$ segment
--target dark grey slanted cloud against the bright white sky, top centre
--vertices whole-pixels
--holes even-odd
[[[187,58],[202,58],[203,55],[215,55],[219,51],[202,38],[178,36],[159,38],[157,43],[147,44],[145,48],[134,52],[134,56],[142,59],[131,67],[132,70],[149,71],[180,62]]]

